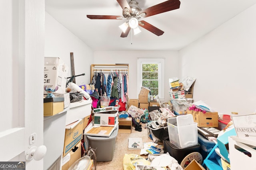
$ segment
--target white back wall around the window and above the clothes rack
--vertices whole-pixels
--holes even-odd
[[[170,99],[169,78],[179,75],[178,51],[95,51],[94,64],[129,64],[129,98],[138,99],[137,58],[165,58],[164,101]]]

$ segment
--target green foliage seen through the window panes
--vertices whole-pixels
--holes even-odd
[[[149,87],[152,95],[158,95],[158,64],[142,64],[142,86]]]

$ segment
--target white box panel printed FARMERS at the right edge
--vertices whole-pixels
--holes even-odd
[[[256,141],[256,114],[232,116],[238,137]]]

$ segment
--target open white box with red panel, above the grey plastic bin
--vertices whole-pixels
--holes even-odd
[[[116,113],[95,113],[94,125],[115,126],[118,123],[118,111]]]

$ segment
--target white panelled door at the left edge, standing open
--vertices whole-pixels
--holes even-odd
[[[43,145],[44,0],[0,0],[0,161]]]

